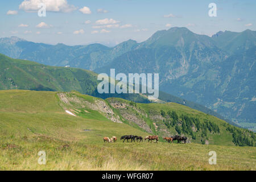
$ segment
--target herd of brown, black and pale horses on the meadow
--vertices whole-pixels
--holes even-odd
[[[164,140],[166,140],[168,143],[173,143],[174,140],[177,140],[177,143],[180,143],[180,142],[184,142],[186,143],[187,141],[187,137],[180,137],[179,135],[175,135],[174,137],[163,137]],[[103,138],[104,142],[117,142],[117,137],[112,137],[112,138],[109,138],[109,137],[104,137]],[[143,137],[138,137],[136,135],[123,135],[120,140],[123,140],[123,142],[125,142],[125,140],[127,140],[127,142],[129,142],[129,140],[131,140],[131,142],[135,142],[135,140],[137,142],[143,142]],[[153,140],[156,140],[156,143],[158,142],[159,138],[158,138],[158,135],[148,135],[147,137],[144,137],[144,140],[148,140],[152,141]]]

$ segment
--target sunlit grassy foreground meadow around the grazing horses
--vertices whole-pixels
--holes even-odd
[[[77,92],[28,90],[2,90],[0,103],[1,170],[255,170],[255,147],[234,146],[232,135],[224,130],[224,121],[189,107],[172,103],[135,104],[119,98],[104,101]],[[136,111],[138,117],[152,109],[208,117],[220,127],[217,135],[227,139],[212,137],[216,143],[209,145],[197,144],[196,140],[188,144],[162,140],[122,143],[122,135],[149,134],[124,118],[121,113],[125,104],[129,105],[126,110]],[[150,124],[150,119],[146,120]],[[104,143],[105,136],[116,136],[117,143]],[[216,145],[222,141],[231,146]],[[46,151],[46,165],[38,164],[39,151]],[[209,165],[209,151],[216,151],[217,165]]]

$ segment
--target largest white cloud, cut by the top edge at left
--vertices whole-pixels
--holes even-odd
[[[19,9],[26,12],[34,12],[40,9],[38,5],[44,3],[47,11],[69,13],[77,8],[74,5],[68,5],[67,0],[24,0]]]

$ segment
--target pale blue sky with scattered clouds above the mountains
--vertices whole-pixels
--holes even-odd
[[[38,16],[38,2],[47,4],[46,17]],[[208,15],[212,2],[217,5],[217,17]],[[171,27],[209,36],[225,30],[256,30],[255,8],[252,0],[0,1],[0,33],[48,44],[114,46],[129,39],[142,42]]]

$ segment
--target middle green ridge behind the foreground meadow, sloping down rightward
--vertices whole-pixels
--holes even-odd
[[[99,94],[96,90],[98,85],[97,74],[84,69],[51,67],[27,60],[11,59],[0,54],[0,71],[0,90],[26,89],[64,92],[77,90],[82,94],[89,94],[101,98],[121,97],[135,102],[150,102],[141,94]],[[159,99],[165,102],[183,104],[224,119],[220,114],[215,113],[205,106],[164,92],[159,92]],[[229,123],[236,126],[233,122]]]

